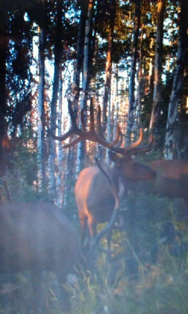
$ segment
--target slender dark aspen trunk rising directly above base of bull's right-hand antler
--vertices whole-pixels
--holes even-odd
[[[135,26],[133,35],[133,48],[131,57],[130,68],[130,83],[129,83],[129,116],[128,116],[128,133],[131,132],[133,127],[134,117],[134,104],[135,104],[135,75],[136,75],[136,60],[138,55],[138,36],[140,29],[141,17],[141,0],[135,0]]]

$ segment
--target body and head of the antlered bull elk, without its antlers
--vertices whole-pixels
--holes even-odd
[[[155,171],[132,160],[131,157],[123,158],[110,153],[110,158],[115,164],[106,171],[117,190],[119,190],[119,178],[123,181],[124,193],[128,192],[130,182],[155,178]],[[75,197],[82,227],[82,241],[84,241],[87,226],[90,235],[94,237],[97,223],[109,221],[115,201],[107,179],[97,167],[88,167],[80,172],[75,185]]]

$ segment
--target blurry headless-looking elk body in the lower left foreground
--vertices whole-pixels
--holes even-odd
[[[78,258],[78,235],[57,206],[41,201],[1,202],[0,230],[0,273],[31,271],[33,310],[38,313],[42,271],[53,271],[58,282],[65,283]],[[68,298],[65,292],[61,295],[66,311]]]

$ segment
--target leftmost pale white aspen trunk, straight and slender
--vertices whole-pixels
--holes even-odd
[[[39,32],[39,86],[38,86],[38,122],[37,122],[37,148],[38,148],[38,179],[39,187],[44,187],[46,179],[46,167],[44,160],[45,152],[45,109],[44,109],[44,89],[45,89],[45,43],[46,43],[46,31],[42,27]]]

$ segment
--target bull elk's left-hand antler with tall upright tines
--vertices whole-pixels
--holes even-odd
[[[82,130],[80,130],[76,124],[76,118],[72,109],[72,104],[71,101],[68,101],[68,109],[69,109],[69,115],[70,115],[70,119],[71,119],[71,128],[69,129],[69,131],[67,133],[65,133],[62,136],[56,136],[54,134],[52,134],[52,138],[59,140],[59,141],[64,141],[65,139],[67,139],[69,136],[71,135],[78,135],[78,137],[73,140],[71,143],[64,145],[64,148],[69,148],[71,146],[74,146],[75,144],[79,143],[80,141],[83,140],[90,140],[92,142],[97,142],[99,144],[101,144],[102,146],[111,149],[119,140],[119,136],[120,136],[120,128],[119,125],[117,126],[117,131],[116,131],[116,138],[114,141],[112,142],[108,142],[104,139],[104,136],[99,136],[96,132],[95,132],[95,127],[94,127],[94,112],[93,112],[93,101],[91,98],[91,102],[90,102],[90,126],[89,126],[89,131],[86,131],[86,125],[85,125],[85,121],[84,121],[84,111],[83,109],[81,110],[81,124],[82,124]],[[100,110],[100,106],[98,107],[98,112],[101,112]],[[102,126],[101,126],[101,122],[98,121],[98,130],[100,130],[100,134],[101,130],[102,130]]]

